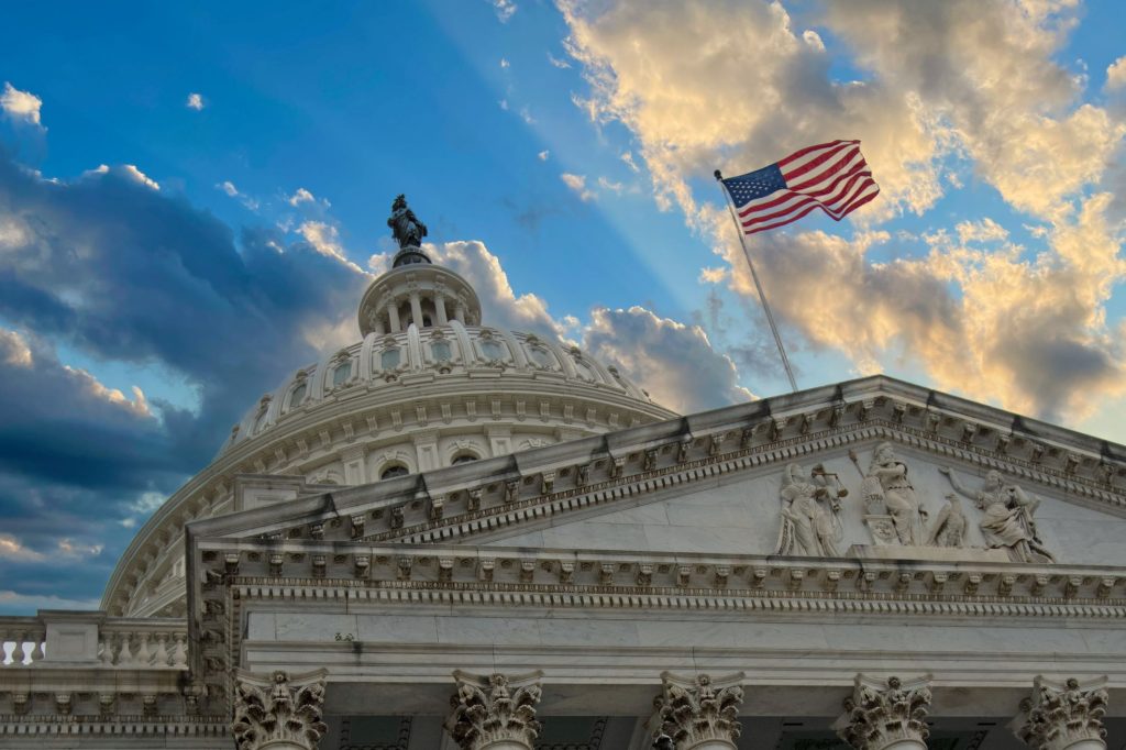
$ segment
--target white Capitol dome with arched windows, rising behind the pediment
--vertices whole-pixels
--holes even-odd
[[[420,234],[396,236],[392,269],[364,294],[363,339],[297,368],[245,412],[136,535],[102,609],[184,614],[191,520],[677,416],[577,347],[484,324],[473,287],[432,264]]]

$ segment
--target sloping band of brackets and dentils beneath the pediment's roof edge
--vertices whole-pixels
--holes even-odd
[[[455,484],[444,482],[443,475],[427,482],[430,477],[427,474],[405,493],[391,491],[391,486],[378,488],[386,491],[376,492],[376,485],[334,492],[329,516],[310,507],[302,511],[304,519],[298,515],[278,518],[277,514],[259,514],[265,523],[256,524],[247,516],[239,530],[234,526],[238,520],[227,517],[209,529],[208,524],[215,523],[204,524],[200,532],[241,537],[361,538],[372,543],[484,542],[510,535],[516,528],[534,530],[561,516],[579,517],[596,508],[635,502],[642,495],[658,500],[691,491],[694,484],[724,475],[784,465],[802,456],[876,440],[890,440],[980,471],[997,468],[1009,476],[1063,491],[1069,502],[1126,517],[1126,497],[1118,488],[1002,454],[989,446],[884,419],[807,432],[798,427],[797,435],[780,437],[786,427],[779,427],[778,421],[772,417],[760,419],[742,425],[741,429],[731,429],[729,425],[706,435],[665,430],[655,439],[613,447],[607,439],[598,445],[600,450],[591,450],[598,441],[591,438],[583,440],[582,446],[575,445],[568,455],[563,455],[566,446],[527,452],[519,464],[497,464],[484,476],[461,474]],[[575,457],[581,463],[570,463]],[[486,467],[472,471],[479,468]]]

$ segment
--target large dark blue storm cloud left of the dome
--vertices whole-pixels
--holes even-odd
[[[61,596],[96,597],[142,493],[151,502],[202,468],[265,389],[316,357],[310,332],[350,318],[365,284],[277,232],[236,240],[131,168],[56,182],[0,159],[0,514],[3,533],[44,555],[0,547],[0,589],[56,586],[65,564],[77,572]],[[198,409],[154,400],[145,413],[52,345],[172,373]],[[105,550],[75,568],[55,554],[65,538]]]

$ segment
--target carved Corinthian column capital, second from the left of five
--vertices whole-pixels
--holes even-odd
[[[533,750],[539,736],[540,677],[543,672],[509,679],[455,671],[457,693],[449,700],[454,713],[446,731],[462,750]]]

